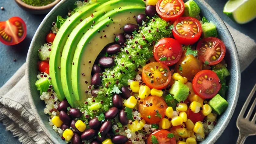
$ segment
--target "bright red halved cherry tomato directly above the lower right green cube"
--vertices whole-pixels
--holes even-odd
[[[198,72],[192,84],[194,92],[203,99],[213,98],[221,88],[219,77],[211,70]]]

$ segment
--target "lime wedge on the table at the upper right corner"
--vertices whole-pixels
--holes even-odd
[[[256,0],[229,0],[223,12],[239,24],[256,18]]]

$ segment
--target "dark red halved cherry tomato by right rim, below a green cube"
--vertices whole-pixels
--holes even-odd
[[[217,37],[206,37],[197,44],[198,58],[208,65],[217,65],[220,63],[225,54],[225,44]]]

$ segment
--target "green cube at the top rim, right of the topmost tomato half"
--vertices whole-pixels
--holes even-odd
[[[193,0],[189,0],[185,2],[184,5],[185,5],[185,10],[184,10],[185,16],[196,17],[200,13],[199,6]]]

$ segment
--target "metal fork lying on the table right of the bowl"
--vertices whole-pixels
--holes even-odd
[[[256,90],[256,84],[254,85],[253,89],[251,90],[251,93],[249,94],[247,100],[245,101],[245,104],[242,108],[242,110],[240,111],[240,114],[236,120],[236,127],[239,129],[239,136],[237,139],[236,144],[243,144],[245,142],[245,139],[248,136],[251,135],[256,135],[256,113],[254,114],[254,117],[252,118],[252,120],[250,121],[250,117],[252,115],[253,109],[256,105],[256,98],[253,101],[253,104],[251,105],[251,108],[247,114],[247,116],[244,118],[244,113],[255,93]]]

